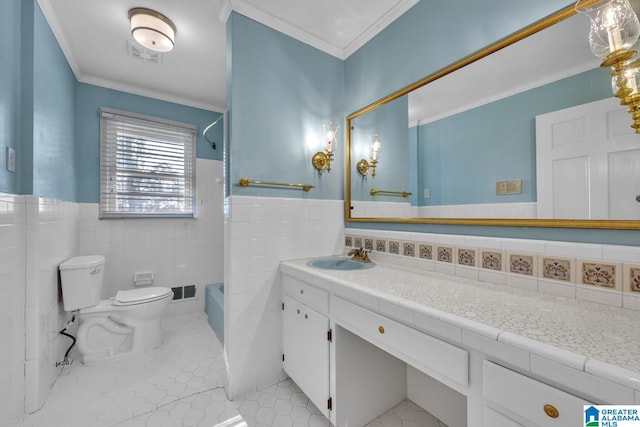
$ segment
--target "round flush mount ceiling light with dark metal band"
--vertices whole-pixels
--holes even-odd
[[[131,36],[147,49],[170,52],[174,47],[176,26],[155,10],[136,7],[129,11]]]

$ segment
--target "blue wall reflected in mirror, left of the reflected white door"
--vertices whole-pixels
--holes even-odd
[[[535,202],[536,115],[609,98],[610,82],[596,68],[419,126],[420,205]],[[496,196],[508,179],[522,179],[522,193]]]

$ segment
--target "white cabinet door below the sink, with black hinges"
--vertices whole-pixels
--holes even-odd
[[[283,368],[318,409],[329,418],[329,319],[284,295]]]

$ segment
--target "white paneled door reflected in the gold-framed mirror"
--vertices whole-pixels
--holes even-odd
[[[640,219],[640,134],[618,99],[536,117],[538,218]]]

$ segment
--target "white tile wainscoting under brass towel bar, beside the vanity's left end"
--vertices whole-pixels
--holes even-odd
[[[341,253],[344,202],[232,196],[228,205],[224,336],[235,398],[286,378],[279,263]]]

